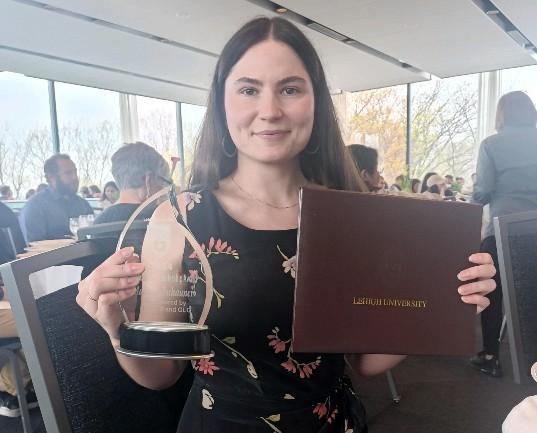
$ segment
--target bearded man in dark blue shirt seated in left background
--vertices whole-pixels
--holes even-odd
[[[45,161],[48,188],[32,196],[21,211],[21,227],[28,242],[71,235],[69,218],[93,214],[79,197],[76,166],[69,155],[58,153]]]

